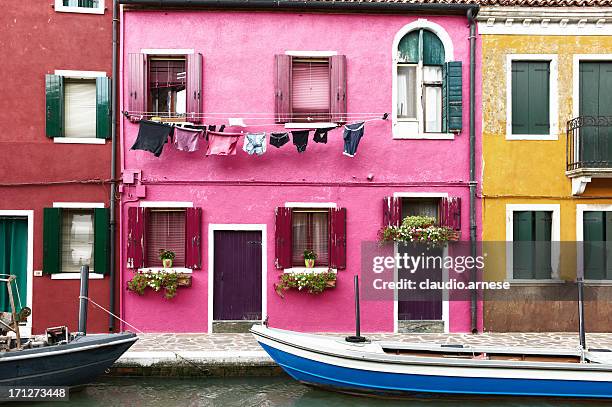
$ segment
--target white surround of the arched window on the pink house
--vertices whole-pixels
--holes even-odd
[[[416,21],[413,21],[410,24],[406,24],[403,26],[397,34],[395,34],[395,38],[393,39],[393,47],[391,49],[391,55],[393,55],[393,64],[391,73],[392,79],[392,131],[393,131],[393,139],[425,139],[425,140],[454,140],[455,133],[447,132],[447,133],[425,133],[424,129],[424,117],[423,117],[423,106],[421,104],[422,100],[422,61],[419,61],[418,64],[414,64],[417,66],[417,120],[413,119],[398,119],[397,117],[397,67],[398,65],[402,65],[397,58],[397,48],[401,39],[411,31],[419,30],[419,29],[427,29],[438,36],[442,44],[444,45],[444,62],[450,62],[454,60],[455,51],[453,46],[453,41],[448,35],[448,32],[439,24],[436,24],[432,21],[429,21],[425,18],[419,18]],[[405,65],[405,64],[404,64]],[[420,69],[421,68],[421,69]],[[444,80],[444,78],[442,78]],[[416,130],[416,131],[415,131]]]

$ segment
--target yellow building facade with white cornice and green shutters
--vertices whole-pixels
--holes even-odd
[[[578,328],[571,288],[585,254],[574,242],[585,232],[599,239],[598,231],[607,240],[608,212],[612,219],[611,15],[605,8],[479,13],[481,239],[551,242],[550,262],[526,263],[511,244],[489,258],[485,279],[510,281],[512,288],[485,294],[485,331]],[[609,332],[612,273],[599,271],[585,274],[594,299],[586,305],[587,331]]]

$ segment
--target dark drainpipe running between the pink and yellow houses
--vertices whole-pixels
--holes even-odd
[[[476,22],[478,9],[469,9],[470,24],[470,249],[476,258]],[[470,270],[471,280],[476,281],[476,269]],[[472,333],[478,333],[478,292],[473,290],[470,299]]]

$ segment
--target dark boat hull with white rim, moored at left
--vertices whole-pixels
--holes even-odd
[[[82,386],[103,374],[137,339],[129,332],[88,335],[68,344],[0,354],[0,386]]]

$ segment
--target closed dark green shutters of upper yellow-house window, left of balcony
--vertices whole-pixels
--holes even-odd
[[[550,62],[512,61],[512,134],[550,134]]]

